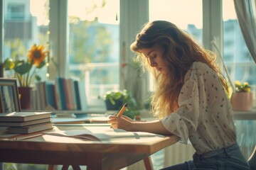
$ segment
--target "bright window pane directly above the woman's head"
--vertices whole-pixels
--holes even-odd
[[[193,8],[191,8],[193,6]],[[189,13],[189,15],[187,15]],[[202,45],[202,0],[149,0],[149,21],[165,20],[193,35]],[[149,77],[150,91],[153,80]]]

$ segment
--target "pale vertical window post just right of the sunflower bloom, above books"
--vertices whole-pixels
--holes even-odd
[[[50,79],[68,76],[68,0],[50,1]]]

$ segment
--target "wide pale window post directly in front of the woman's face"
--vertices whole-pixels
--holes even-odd
[[[129,49],[131,42],[134,41],[136,33],[142,25],[149,21],[149,0],[129,0],[120,1],[120,63],[132,63],[134,53]],[[121,65],[120,64],[120,65]],[[120,67],[120,72],[124,68]],[[132,91],[139,102],[142,102],[147,89],[146,79],[138,79],[137,70],[126,67],[124,77],[120,77],[120,89]],[[127,79],[129,81],[124,81]],[[129,83],[126,83],[129,82]],[[143,86],[143,88],[142,88]],[[135,87],[135,88],[134,88]]]

